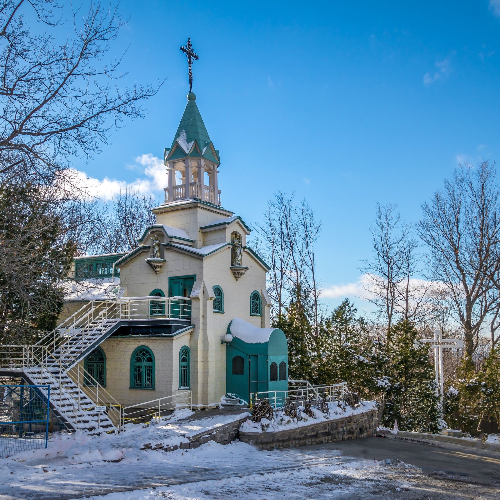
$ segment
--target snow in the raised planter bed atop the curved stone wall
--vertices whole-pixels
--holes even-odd
[[[260,422],[252,422],[251,420],[246,420],[243,422],[239,428],[243,432],[277,432],[279,430],[288,430],[297,427],[302,427],[304,425],[311,425],[313,423],[323,422],[326,420],[334,420],[336,418],[345,418],[350,415],[357,415],[359,413],[364,413],[365,411],[370,411],[376,409],[376,403],[373,401],[362,401],[356,408],[351,408],[346,405],[341,408],[336,402],[329,403],[329,414],[326,415],[317,409],[312,408],[313,416],[307,416],[303,411],[303,407],[299,406],[297,418],[290,418],[284,415],[281,411],[275,412],[272,420],[267,418],[262,418]]]

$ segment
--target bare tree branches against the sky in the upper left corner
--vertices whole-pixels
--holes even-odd
[[[103,61],[124,20],[116,7],[90,5],[73,13],[72,35],[60,43],[50,30],[61,24],[55,0],[0,0],[0,183],[12,179],[52,182],[68,158],[87,158],[124,117],[143,115],[140,101],[158,87],[131,88],[122,57]],[[48,32],[35,33],[35,18]],[[67,182],[71,182],[66,175]]]

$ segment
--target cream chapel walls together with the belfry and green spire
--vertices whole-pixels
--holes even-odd
[[[168,297],[173,295],[169,278],[194,276],[190,291],[191,325],[184,324],[178,334],[165,328],[164,334],[156,331],[125,335],[123,329],[116,329],[100,343],[106,360],[106,389],[124,405],[169,396],[179,390],[179,353],[183,346],[190,349],[189,388],[193,404],[202,407],[218,402],[226,391],[226,344],[221,340],[230,321],[237,317],[259,328],[270,327],[270,304],[265,290],[268,268],[246,247],[248,226],[221,206],[217,187],[219,154],[199,115],[196,96],[190,92],[187,99],[172,146],[165,148],[165,202],[152,209],[156,223],[144,230],[137,247],[116,257],[112,279],[107,288],[102,287],[108,290],[102,298],[110,298],[109,290],[118,297],[148,297],[154,290],[161,290]],[[176,177],[176,172],[180,177]],[[176,178],[180,184],[175,183]],[[233,249],[240,247],[241,260],[233,261]],[[95,257],[105,260],[104,256]],[[119,289],[114,287],[117,268]],[[215,285],[223,292],[223,312],[213,310]],[[260,297],[259,315],[250,314],[250,296],[255,291]],[[83,304],[97,298],[88,292],[73,295],[69,298],[68,294],[72,302],[66,313],[77,306],[78,300]],[[131,356],[139,346],[146,346],[154,355],[151,389],[131,388]]]

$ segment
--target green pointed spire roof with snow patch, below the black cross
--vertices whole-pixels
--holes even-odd
[[[176,159],[185,156],[202,156],[208,160],[220,163],[218,151],[213,148],[205,124],[196,105],[196,96],[189,92],[184,114],[180,120],[170,149],[165,150],[166,159]]]

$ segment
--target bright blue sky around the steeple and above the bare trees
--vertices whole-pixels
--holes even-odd
[[[190,36],[222,205],[251,224],[277,189],[305,196],[323,221],[316,259],[332,305],[357,293],[377,201],[418,219],[459,161],[500,159],[500,0],[122,1],[120,10],[130,20],[113,50],[128,46],[127,78],[167,79],[144,119],[74,166],[109,179],[104,198],[114,180],[166,185],[163,148],[188,90],[178,47]]]

